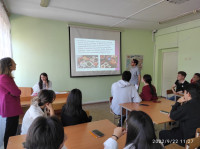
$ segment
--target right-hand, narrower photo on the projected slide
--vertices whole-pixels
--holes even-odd
[[[101,68],[117,68],[118,57],[116,55],[101,55]]]

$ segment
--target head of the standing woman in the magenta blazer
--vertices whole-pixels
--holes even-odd
[[[0,60],[0,75],[6,74],[12,77],[11,72],[16,69],[16,63],[10,57],[2,58]]]

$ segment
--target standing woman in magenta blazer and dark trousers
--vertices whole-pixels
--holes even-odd
[[[8,138],[17,132],[21,91],[14,82],[11,72],[16,69],[15,62],[7,57],[0,60],[0,118],[6,118],[4,148],[7,148]],[[1,124],[2,126],[2,124]]]

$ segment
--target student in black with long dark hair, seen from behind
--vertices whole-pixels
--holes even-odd
[[[88,117],[86,112],[82,109],[81,91],[79,89],[73,89],[61,111],[61,121],[63,126],[91,122],[91,120],[92,117]]]

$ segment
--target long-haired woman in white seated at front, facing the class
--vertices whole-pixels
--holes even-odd
[[[33,86],[32,95],[37,95],[42,89],[52,89],[52,82],[48,79],[48,75],[45,72],[40,74],[39,82]]]

